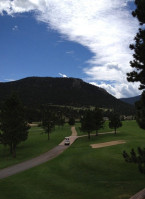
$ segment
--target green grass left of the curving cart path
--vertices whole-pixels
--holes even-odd
[[[15,159],[10,156],[8,146],[4,147],[0,145],[0,169],[36,157],[52,149],[58,145],[65,136],[69,135],[71,135],[69,125],[55,127],[48,141],[47,134],[44,133],[41,127],[31,127],[28,139],[18,145],[16,150],[17,157]]]

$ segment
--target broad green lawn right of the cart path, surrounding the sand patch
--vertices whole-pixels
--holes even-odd
[[[105,130],[105,129],[104,129]],[[57,158],[0,180],[2,199],[129,199],[145,187],[137,166],[125,163],[122,151],[145,146],[145,131],[123,122],[117,135],[78,139]],[[126,144],[92,149],[90,144],[126,140]]]

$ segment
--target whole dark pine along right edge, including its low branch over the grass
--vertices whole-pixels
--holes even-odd
[[[135,0],[136,10],[132,12],[134,17],[137,17],[140,22],[140,29],[135,37],[135,44],[131,44],[131,50],[134,50],[134,60],[130,62],[131,67],[135,68],[134,71],[128,73],[128,81],[140,82],[139,89],[145,89],[145,0]],[[145,91],[142,93],[141,100],[136,104],[137,122],[139,126],[145,129]],[[138,154],[134,149],[130,155],[124,151],[123,157],[126,162],[138,164],[139,171],[145,174],[145,149],[138,147]]]

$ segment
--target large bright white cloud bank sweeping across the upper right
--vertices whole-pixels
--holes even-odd
[[[113,88],[106,83],[104,87],[116,96],[129,96],[138,92],[126,81],[132,59],[129,44],[138,30],[127,8],[129,1],[133,0],[0,0],[0,13],[35,11],[37,20],[94,54],[84,69],[90,81],[114,80]]]

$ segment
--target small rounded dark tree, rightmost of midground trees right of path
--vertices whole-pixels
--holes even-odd
[[[109,128],[114,129],[116,134],[116,129],[122,126],[122,122],[120,120],[120,116],[117,113],[112,113],[109,122]]]

